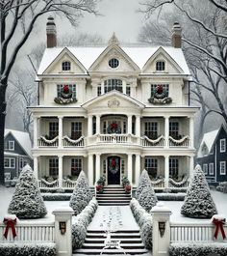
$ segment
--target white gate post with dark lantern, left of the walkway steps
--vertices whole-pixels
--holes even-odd
[[[56,209],[55,215],[55,242],[57,256],[72,255],[72,215],[70,207]]]

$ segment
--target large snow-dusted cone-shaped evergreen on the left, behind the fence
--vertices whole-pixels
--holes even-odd
[[[15,214],[19,218],[39,218],[47,213],[38,181],[28,164],[20,173],[8,213]]]

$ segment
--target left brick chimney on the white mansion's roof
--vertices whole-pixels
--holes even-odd
[[[57,32],[53,16],[47,18],[46,23],[46,46],[52,48],[57,46]]]

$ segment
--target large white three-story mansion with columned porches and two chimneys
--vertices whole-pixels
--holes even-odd
[[[91,186],[103,175],[108,185],[122,176],[138,185],[144,168],[156,187],[187,185],[197,108],[189,106],[181,30],[174,23],[172,46],[124,46],[113,36],[105,46],[57,47],[48,18],[31,108],[41,186],[73,186],[82,169]]]

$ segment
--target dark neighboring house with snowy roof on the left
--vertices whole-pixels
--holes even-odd
[[[5,179],[18,178],[26,163],[32,164],[32,145],[27,132],[5,129],[4,171]]]

